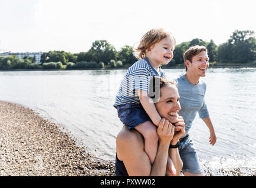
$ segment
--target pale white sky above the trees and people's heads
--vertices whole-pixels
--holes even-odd
[[[0,0],[0,52],[87,52],[107,40],[136,46],[152,28],[176,43],[219,45],[236,29],[256,32],[254,0]]]

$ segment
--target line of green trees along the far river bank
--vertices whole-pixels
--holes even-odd
[[[210,62],[248,63],[256,59],[256,40],[254,31],[234,31],[227,42],[216,45],[202,39],[182,42],[176,45],[172,61],[165,66],[183,66],[183,53],[190,46],[202,45],[208,49]],[[44,52],[41,62],[35,62],[33,57],[0,56],[0,69],[89,69],[129,67],[137,59],[133,55],[133,47],[123,46],[116,51],[106,40],[94,41],[87,52],[70,53],[64,51]]]

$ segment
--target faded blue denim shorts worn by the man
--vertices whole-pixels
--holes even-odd
[[[202,173],[198,155],[190,136],[180,141],[179,155],[183,162],[182,173],[189,172],[194,174]]]

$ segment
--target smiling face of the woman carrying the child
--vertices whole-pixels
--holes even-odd
[[[181,109],[178,88],[175,85],[168,85],[161,88],[160,93],[159,102],[155,104],[157,112],[169,122],[177,122],[178,112]]]

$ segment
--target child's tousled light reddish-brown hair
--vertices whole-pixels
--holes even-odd
[[[135,49],[133,55],[137,59],[143,59],[146,56],[146,49],[150,46],[155,45],[155,43],[160,42],[162,39],[170,37],[174,41],[174,46],[176,45],[176,40],[172,33],[165,31],[164,29],[151,29],[140,39],[139,46]]]

